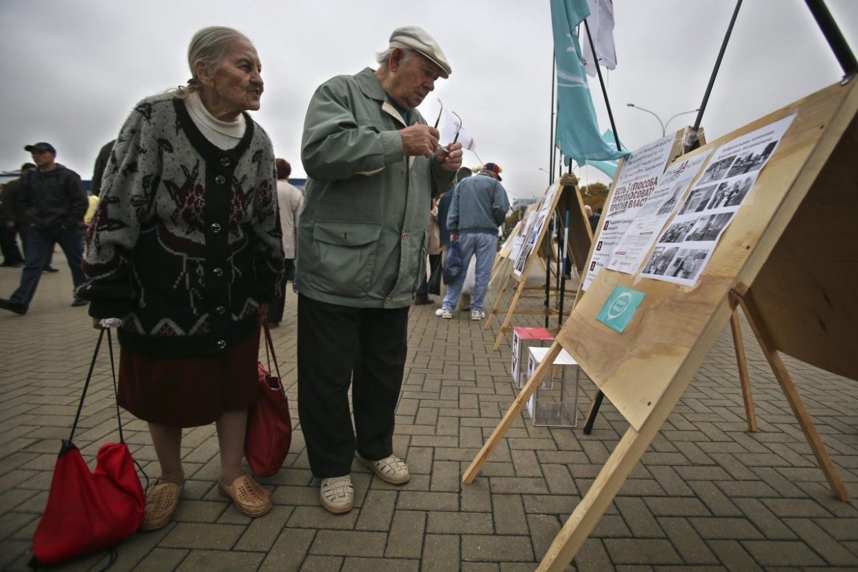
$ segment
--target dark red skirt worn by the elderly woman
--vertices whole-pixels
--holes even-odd
[[[260,398],[259,331],[211,356],[167,359],[119,353],[119,405],[136,417],[169,427],[199,427],[225,411],[248,409]]]

